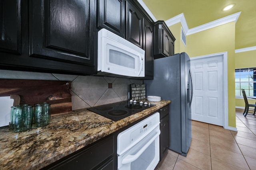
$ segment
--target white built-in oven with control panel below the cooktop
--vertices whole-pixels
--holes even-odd
[[[154,113],[117,137],[118,170],[154,170],[159,162],[160,114]]]

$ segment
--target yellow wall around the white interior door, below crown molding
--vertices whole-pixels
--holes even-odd
[[[181,26],[181,24],[180,24]],[[186,36],[186,47],[180,40],[178,24],[170,26],[176,37],[175,53],[186,52],[190,57],[228,52],[228,126],[236,127],[235,111],[235,22]],[[179,33],[179,35],[177,35]],[[176,49],[176,45],[179,44]]]

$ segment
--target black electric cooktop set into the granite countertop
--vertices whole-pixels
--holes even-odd
[[[142,110],[148,109],[155,104],[140,104],[129,102],[128,100],[122,102],[116,102],[112,104],[105,104],[101,106],[90,107],[88,110],[98,113],[108,119],[118,121]]]

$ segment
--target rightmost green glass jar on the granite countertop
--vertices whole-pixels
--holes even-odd
[[[50,123],[51,107],[49,103],[35,104],[34,118],[36,127],[46,126]]]

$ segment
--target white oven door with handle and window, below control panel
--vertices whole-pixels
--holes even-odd
[[[118,170],[154,170],[159,162],[159,125],[140,142],[118,156]]]

